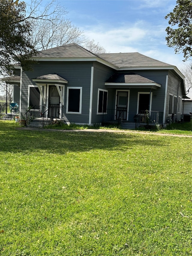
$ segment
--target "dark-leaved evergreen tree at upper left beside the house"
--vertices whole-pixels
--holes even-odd
[[[27,60],[36,53],[29,38],[31,25],[25,17],[25,2],[0,1],[0,74],[10,74],[18,61],[23,61],[25,68]]]

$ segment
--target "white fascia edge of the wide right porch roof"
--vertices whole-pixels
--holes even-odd
[[[161,88],[161,84],[158,83],[105,83],[108,88],[148,88],[158,89]]]

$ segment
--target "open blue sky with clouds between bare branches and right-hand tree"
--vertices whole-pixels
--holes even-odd
[[[73,25],[94,39],[107,53],[139,52],[154,59],[182,65],[183,55],[167,47],[164,17],[176,0],[58,0]]]

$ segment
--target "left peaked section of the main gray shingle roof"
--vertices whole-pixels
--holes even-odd
[[[67,44],[43,51],[39,51],[37,56],[41,58],[87,58],[96,55],[89,52],[78,44]]]

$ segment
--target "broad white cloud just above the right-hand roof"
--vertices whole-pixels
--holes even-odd
[[[182,56],[166,46],[164,26],[153,26],[146,21],[125,24],[109,29],[106,25],[84,28],[85,36],[99,42],[108,53],[139,52],[162,62],[180,66]]]

